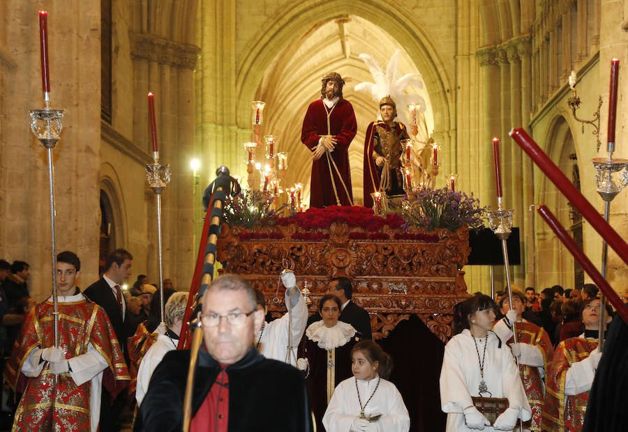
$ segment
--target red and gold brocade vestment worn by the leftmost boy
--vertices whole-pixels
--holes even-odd
[[[69,373],[50,373],[46,362],[40,375],[28,378],[22,365],[36,348],[54,345],[52,302],[43,302],[31,309],[15,340],[11,357],[4,371],[9,385],[23,393],[15,413],[14,430],[19,431],[89,431],[91,381],[77,386]],[[103,371],[103,385],[112,397],[126,387],[130,377],[105,311],[87,300],[59,302],[59,347],[66,358],[87,353],[91,343],[109,367]]]

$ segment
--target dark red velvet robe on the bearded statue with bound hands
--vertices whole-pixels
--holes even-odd
[[[331,111],[329,116],[329,130],[327,130],[327,112]],[[327,206],[335,206],[336,194],[331,183],[329,168],[331,165],[331,173],[334,176],[336,192],[341,206],[350,206],[353,201],[351,191],[351,173],[349,169],[349,145],[355,137],[357,131],[357,123],[355,114],[350,102],[345,99],[339,99],[332,109],[328,109],[322,100],[312,102],[308,107],[306,116],[303,119],[303,128],[301,130],[301,141],[310,150],[318,145],[318,140],[323,135],[334,135],[338,140],[336,148],[333,152],[327,153],[336,162],[338,171],[347,187],[347,192],[338,178],[338,173],[331,164],[328,163],[327,155],[322,155],[319,160],[312,163],[312,177],[310,183],[310,207],[323,208]]]

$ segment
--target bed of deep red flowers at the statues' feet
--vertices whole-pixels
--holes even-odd
[[[400,228],[405,224],[397,213],[389,213],[385,217],[377,216],[372,208],[363,206],[329,206],[327,208],[308,208],[303,213],[292,217],[279,217],[278,225],[296,224],[304,230],[326,229],[332,223],[344,223],[351,228],[361,228],[365,231],[377,232],[384,225],[391,228]],[[294,236],[293,236],[294,238]]]

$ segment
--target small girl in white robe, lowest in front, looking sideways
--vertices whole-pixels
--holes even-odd
[[[351,351],[352,378],[334,390],[322,422],[327,432],[407,432],[410,416],[397,387],[384,379],[390,356],[373,341]]]

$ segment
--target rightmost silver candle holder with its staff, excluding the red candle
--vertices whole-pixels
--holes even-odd
[[[628,160],[613,159],[614,143],[608,143],[608,157],[595,157],[591,160],[595,167],[595,183],[597,185],[597,193],[604,200],[604,220],[608,222],[611,219],[611,201],[618,196],[620,192],[628,185]],[[613,174],[619,173],[615,179]],[[606,279],[607,261],[608,261],[608,243],[606,240],[602,242],[601,257],[601,275]],[[605,298],[604,294],[599,296],[601,307],[599,310],[599,333],[604,334]],[[599,337],[599,350],[604,349],[604,337]]]

